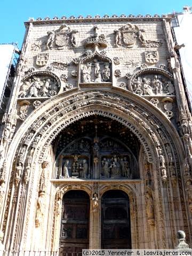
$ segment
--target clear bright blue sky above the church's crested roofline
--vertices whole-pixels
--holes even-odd
[[[192,0],[1,0],[0,3],[0,43],[18,42],[19,48],[25,34],[23,22],[29,17],[164,14],[180,12],[183,5],[192,6]]]

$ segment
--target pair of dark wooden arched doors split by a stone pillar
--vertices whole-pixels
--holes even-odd
[[[82,249],[89,249],[89,220],[89,195],[68,191],[62,202],[61,255],[81,256]],[[122,190],[108,190],[101,198],[101,248],[131,249],[130,202]]]

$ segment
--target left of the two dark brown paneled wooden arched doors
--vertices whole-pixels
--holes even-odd
[[[61,255],[76,256],[89,249],[89,219],[89,195],[83,190],[69,190],[62,199]]]

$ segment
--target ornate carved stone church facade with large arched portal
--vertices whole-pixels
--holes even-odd
[[[191,245],[191,114],[171,15],[25,22],[3,117],[3,250]]]

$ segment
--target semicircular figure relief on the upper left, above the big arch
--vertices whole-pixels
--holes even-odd
[[[41,74],[41,73],[40,73]],[[49,74],[49,73],[48,73]],[[55,75],[52,77],[48,74],[29,75],[23,78],[19,97],[20,98],[39,98],[51,97],[59,92],[60,82]],[[59,83],[58,83],[59,82]]]

